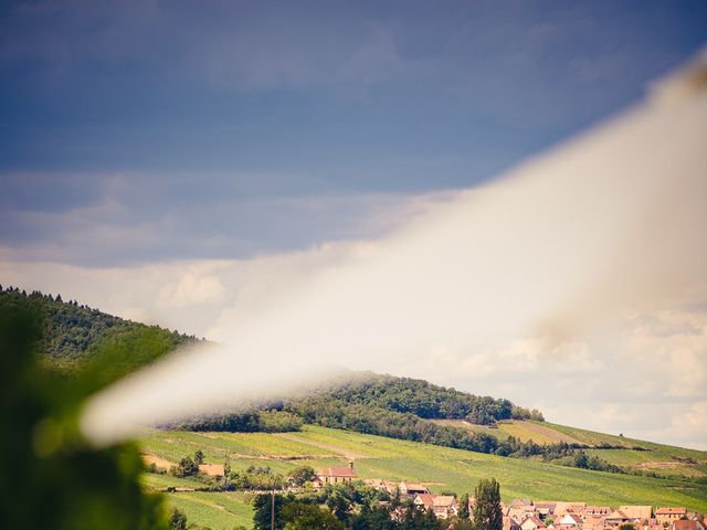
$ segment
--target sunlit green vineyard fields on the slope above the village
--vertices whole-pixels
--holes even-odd
[[[584,434],[589,432],[570,431],[566,433],[568,436],[589,436]],[[657,444],[619,439],[626,444],[656,446],[655,453],[668,451]],[[481,478],[496,477],[505,501],[532,498],[613,507],[639,504],[707,510],[707,485],[589,471],[325,427],[306,426],[300,433],[287,434],[154,431],[140,444],[146,454],[171,462],[201,448],[207,462],[222,463],[228,457],[234,470],[250,465],[267,465],[286,474],[303,464],[317,468],[345,465],[354,459],[362,478],[422,480],[429,483],[433,492],[471,492]],[[678,453],[705,457],[704,453],[690,449],[679,449]],[[148,475],[146,484],[155,489],[179,485],[193,487],[181,479],[156,475]],[[168,494],[168,500],[182,509],[190,521],[214,530],[231,529],[235,524],[250,527],[251,523],[251,507],[245,494],[180,492]]]

